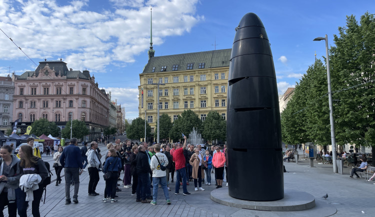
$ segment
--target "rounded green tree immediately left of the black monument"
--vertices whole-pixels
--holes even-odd
[[[226,121],[217,111],[208,112],[202,125],[202,136],[206,140],[226,140]]]

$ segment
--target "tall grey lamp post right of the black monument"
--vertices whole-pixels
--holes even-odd
[[[328,37],[316,37],[313,40],[325,40],[325,55],[327,59],[327,83],[328,83],[328,103],[329,103],[329,122],[330,122],[330,140],[332,145],[332,163],[333,163],[333,172],[337,173],[336,165],[336,139],[334,137],[334,120],[333,120],[333,106],[332,106],[332,92],[330,88],[330,73],[329,73],[329,53],[328,53]]]

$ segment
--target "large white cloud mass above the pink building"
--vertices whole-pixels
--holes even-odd
[[[112,5],[96,12],[86,9],[88,0],[65,5],[45,0],[0,0],[0,28],[31,58],[58,55],[72,68],[103,72],[111,60],[133,62],[135,55],[148,49],[150,6],[152,42],[158,45],[166,36],[189,32],[204,19],[195,14],[197,2],[109,0]],[[24,58],[24,54],[4,36],[0,58]]]

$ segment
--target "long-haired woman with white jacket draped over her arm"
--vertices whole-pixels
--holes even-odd
[[[20,146],[19,150],[19,157],[21,160],[19,161],[20,171],[23,174],[38,174],[41,177],[41,181],[38,183],[38,189],[33,190],[33,200],[32,200],[32,216],[39,217],[39,203],[41,199],[41,195],[43,193],[43,180],[48,176],[47,167],[42,159],[37,156],[34,156],[32,153],[32,147],[30,145],[22,145]],[[24,192],[24,198],[26,198],[26,192]],[[26,216],[26,208],[28,205],[28,201],[24,201],[24,205],[22,207],[23,210],[20,210],[20,216]]]

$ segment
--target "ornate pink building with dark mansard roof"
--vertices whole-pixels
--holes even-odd
[[[66,121],[86,122],[92,137],[108,126],[109,99],[88,70],[68,69],[60,61],[40,61],[35,71],[15,75],[13,120],[21,132],[34,120],[46,118],[64,128]]]

